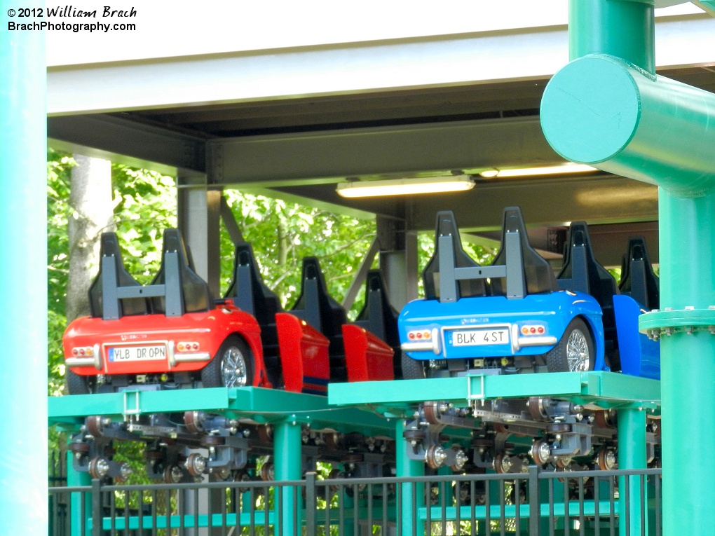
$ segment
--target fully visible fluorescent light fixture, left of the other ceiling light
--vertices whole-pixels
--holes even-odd
[[[474,182],[470,177],[466,175],[455,175],[449,177],[341,182],[337,185],[337,193],[342,197],[378,197],[388,195],[437,194],[440,192],[465,192],[473,187]]]

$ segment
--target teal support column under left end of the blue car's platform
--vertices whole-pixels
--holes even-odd
[[[425,462],[420,460],[410,460],[407,456],[408,449],[411,449],[407,440],[403,437],[405,431],[405,421],[398,419],[395,421],[395,450],[398,477],[422,477],[425,475]],[[415,489],[416,488],[416,489]],[[415,502],[413,502],[413,494]],[[425,505],[424,485],[405,483],[401,485],[400,502],[398,502],[398,518],[402,520],[402,536],[412,536],[413,534],[424,534],[425,522],[417,520],[416,509]],[[398,525],[400,526],[400,525]]]

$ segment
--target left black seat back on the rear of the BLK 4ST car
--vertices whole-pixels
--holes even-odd
[[[452,211],[445,210],[437,213],[437,228],[435,229],[435,252],[422,272],[426,299],[439,299],[440,297],[440,237],[451,237],[455,268],[478,268],[479,264],[470,257],[462,248],[459,229]],[[486,296],[488,292],[485,279],[461,279],[457,282],[457,298]]]

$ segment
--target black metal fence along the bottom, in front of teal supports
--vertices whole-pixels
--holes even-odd
[[[73,536],[661,536],[660,470],[51,487]],[[59,514],[52,512],[52,515]],[[73,523],[71,532],[69,524]],[[61,532],[66,530],[66,532]]]

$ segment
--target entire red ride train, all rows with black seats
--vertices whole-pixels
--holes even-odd
[[[379,272],[368,274],[365,307],[350,324],[315,257],[304,259],[290,312],[263,283],[247,242],[237,244],[232,283],[218,300],[177,229],[164,232],[162,266],[146,286],[124,269],[116,234],[102,235],[100,257],[92,315],[64,334],[70,394],[199,385],[326,394],[328,382],[393,379],[397,312]]]

